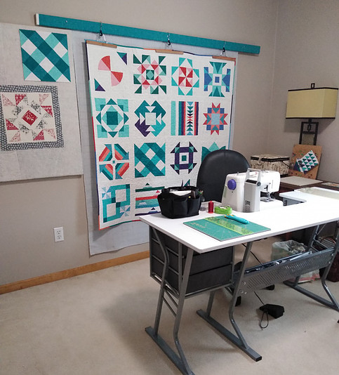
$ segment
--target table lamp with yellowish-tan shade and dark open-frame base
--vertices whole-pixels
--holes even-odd
[[[313,119],[335,119],[338,88],[315,87],[288,90],[286,119],[308,119],[300,126],[300,145],[316,145],[319,121]],[[304,126],[307,126],[304,129]]]

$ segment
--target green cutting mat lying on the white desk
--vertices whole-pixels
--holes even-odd
[[[225,241],[226,239],[232,239],[242,237],[246,235],[253,235],[253,233],[265,232],[270,228],[264,227],[259,224],[252,223],[248,224],[239,223],[234,220],[225,218],[225,216],[211,216],[211,218],[204,218],[194,221],[186,221],[184,223],[191,228],[199,230],[208,236],[211,236],[219,241]]]

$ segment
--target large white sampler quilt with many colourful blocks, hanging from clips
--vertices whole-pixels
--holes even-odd
[[[159,212],[230,146],[235,59],[87,41],[99,228]]]

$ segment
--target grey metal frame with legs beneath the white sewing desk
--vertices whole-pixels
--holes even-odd
[[[144,221],[147,222],[147,219]],[[166,250],[166,246],[164,246],[163,241],[161,239],[162,232],[161,230],[159,230],[159,228],[156,228],[156,225],[152,225],[152,223],[149,223],[149,222],[148,224],[152,228],[154,235],[157,237],[157,240],[161,246],[161,251],[164,254],[165,262],[164,262],[163,272],[161,275],[161,280],[159,280],[160,291],[159,291],[157,313],[156,313],[156,317],[154,321],[154,327],[147,327],[145,330],[147,334],[149,334],[149,336],[152,337],[155,343],[157,343],[159,348],[161,348],[161,350],[163,350],[164,353],[168,356],[168,358],[175,364],[175,366],[178,367],[178,369],[181,371],[182,374],[194,375],[192,369],[190,368],[190,365],[187,362],[184,350],[182,349],[182,346],[180,344],[180,340],[178,337],[179,328],[180,328],[180,320],[182,317],[182,310],[183,310],[185,298],[188,298],[192,295],[197,295],[199,293],[206,292],[206,290],[201,290],[189,296],[187,296],[186,294],[187,283],[190,277],[190,268],[192,265],[194,249],[191,249],[189,247],[187,250],[187,258],[185,262],[185,267],[182,270],[182,281],[179,286],[179,294],[176,294],[175,292],[173,292],[171,285],[168,285],[168,283],[166,282],[166,275],[168,272],[168,251]],[[311,226],[311,225],[308,225],[308,226]],[[304,228],[307,228],[307,227],[304,227]],[[253,348],[248,346],[248,343],[246,343],[246,340],[243,334],[241,333],[241,330],[239,329],[237,322],[234,319],[234,308],[237,303],[237,298],[239,296],[242,296],[249,291],[254,291],[256,289],[262,289],[264,287],[268,287],[272,284],[276,284],[277,282],[284,282],[284,284],[286,284],[288,287],[292,287],[296,291],[299,291],[300,293],[305,294],[306,296],[309,296],[310,298],[313,298],[315,301],[318,301],[319,303],[326,305],[328,308],[332,308],[334,310],[339,311],[338,302],[335,301],[333,294],[331,294],[331,291],[328,289],[326,285],[326,276],[328,275],[328,271],[331,268],[331,264],[333,263],[335,254],[338,252],[339,239],[337,239],[337,241],[335,242],[335,246],[329,249],[321,249],[321,251],[319,251],[319,241],[317,237],[319,235],[319,232],[321,231],[321,228],[322,228],[322,225],[317,225],[314,229],[312,239],[310,240],[310,244],[308,245],[308,249],[307,249],[307,251],[310,251],[310,254],[307,254],[300,258],[295,258],[294,260],[291,260],[291,261],[284,261],[281,263],[277,262],[278,264],[276,265],[272,265],[271,267],[268,267],[268,268],[262,268],[255,272],[247,272],[248,270],[246,268],[248,256],[251,252],[251,247],[255,239],[253,239],[253,241],[246,242],[246,250],[244,252],[244,256],[241,262],[241,268],[239,272],[237,272],[237,275],[234,275],[232,284],[222,285],[222,286],[208,289],[208,291],[210,291],[210,296],[208,299],[208,305],[207,305],[206,311],[198,310],[197,314],[200,317],[202,317],[204,320],[206,320],[206,322],[211,324],[212,327],[217,329],[220,332],[220,334],[225,336],[225,338],[227,338],[232,343],[234,343],[235,346],[243,350],[244,353],[246,353],[249,357],[251,357],[255,361],[259,361],[262,359],[261,355],[255,352]],[[169,232],[167,232],[166,234],[168,235],[168,233]],[[263,238],[263,236],[261,238]],[[246,237],[244,239],[246,239]],[[179,246],[181,246],[180,241],[178,241],[178,244]],[[185,244],[187,245],[187,243]],[[307,289],[304,289],[303,287],[300,287],[298,285],[298,280],[299,280],[300,275],[303,275],[305,272],[310,272],[311,270],[317,270],[319,268],[325,268],[324,273],[321,277],[321,283],[329,298],[328,300],[325,298],[321,298],[321,296],[312,294],[312,292],[307,291]],[[288,279],[291,279],[292,277],[295,278],[294,282],[287,281]],[[228,329],[226,329],[225,327],[223,327],[222,324],[220,324],[219,322],[214,320],[213,317],[211,317],[211,310],[213,306],[213,298],[215,295],[215,291],[217,289],[224,288],[224,287],[232,291],[232,300],[230,302],[228,315],[229,315],[232,327],[235,331],[235,334],[229,331]],[[161,338],[159,334],[161,310],[162,310],[164,303],[168,306],[168,308],[171,310],[171,312],[175,316],[175,322],[173,325],[173,342],[175,344],[177,353],[175,353],[175,350],[173,350],[168,345],[168,343],[166,343],[166,341],[164,341],[164,339]]]

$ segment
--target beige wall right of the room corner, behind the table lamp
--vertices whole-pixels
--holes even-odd
[[[277,48],[267,152],[291,154],[299,141],[300,120],[286,120],[287,91],[339,87],[339,1],[279,1]],[[339,103],[338,103],[339,106]],[[339,183],[339,116],[320,120],[323,147],[318,178]]]

